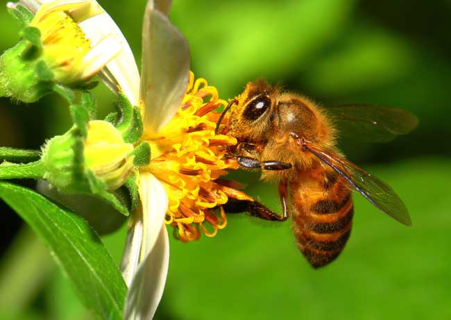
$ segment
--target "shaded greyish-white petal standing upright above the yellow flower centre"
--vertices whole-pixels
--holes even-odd
[[[168,3],[165,3],[168,2]],[[157,133],[176,114],[189,79],[189,47],[163,11],[170,1],[148,1],[142,29],[140,99],[144,135]]]

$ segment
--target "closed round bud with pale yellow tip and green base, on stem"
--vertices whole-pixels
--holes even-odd
[[[44,179],[67,194],[91,193],[93,178],[105,190],[115,190],[133,169],[132,151],[133,145],[107,121],[90,121],[86,138],[74,126],[44,147]]]

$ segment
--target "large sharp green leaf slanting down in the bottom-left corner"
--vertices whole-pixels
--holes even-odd
[[[96,319],[122,319],[126,285],[87,222],[24,187],[0,183],[0,197],[53,252],[78,297]]]

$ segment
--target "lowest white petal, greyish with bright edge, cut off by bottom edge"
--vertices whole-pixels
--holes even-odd
[[[166,226],[151,253],[139,264],[128,290],[124,319],[151,320],[161,301],[169,267],[169,238]]]

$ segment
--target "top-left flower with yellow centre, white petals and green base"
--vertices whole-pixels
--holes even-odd
[[[117,91],[111,79],[122,64],[133,61],[133,53],[117,25],[96,1],[8,3],[10,10],[19,6],[25,6],[35,15],[22,31],[24,40],[0,59],[0,78],[7,79],[0,83],[0,96],[33,102],[51,92],[51,83],[80,85],[98,72]],[[34,51],[30,50],[31,44]],[[121,68],[120,76],[127,83],[137,81],[136,65]],[[130,96],[135,94],[125,85],[122,90]]]

